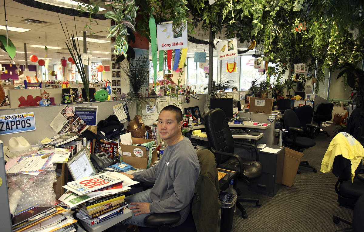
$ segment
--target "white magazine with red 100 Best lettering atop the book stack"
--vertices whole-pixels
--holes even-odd
[[[67,183],[67,188],[72,192],[83,195],[97,189],[107,187],[126,180],[127,177],[117,172],[104,172],[91,177],[85,177]]]

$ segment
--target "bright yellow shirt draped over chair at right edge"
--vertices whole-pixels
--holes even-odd
[[[342,155],[351,160],[351,180],[355,176],[355,170],[364,157],[364,148],[354,137],[345,132],[340,132],[331,140],[321,162],[321,172],[330,172],[335,156]]]

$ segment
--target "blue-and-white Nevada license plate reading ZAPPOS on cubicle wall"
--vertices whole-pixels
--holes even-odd
[[[34,113],[0,116],[0,135],[35,130]]]

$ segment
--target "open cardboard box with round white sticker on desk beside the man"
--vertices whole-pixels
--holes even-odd
[[[153,139],[145,139],[145,138],[131,138],[131,141],[133,144],[146,143],[150,141],[153,141],[155,143]],[[121,144],[120,150],[123,156],[123,162],[130,164],[134,168],[142,168],[142,169],[147,168],[149,152],[147,153],[145,147]],[[153,151],[150,165],[154,164],[156,160],[157,160],[157,149]]]

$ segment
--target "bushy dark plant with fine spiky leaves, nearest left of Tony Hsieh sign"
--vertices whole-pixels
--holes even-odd
[[[141,95],[140,91],[149,80],[149,59],[130,63],[124,62],[121,64],[121,70],[124,72],[124,80],[130,84],[130,91],[127,93],[126,102],[137,106],[137,114],[141,114],[142,105],[147,103],[146,98]]]

